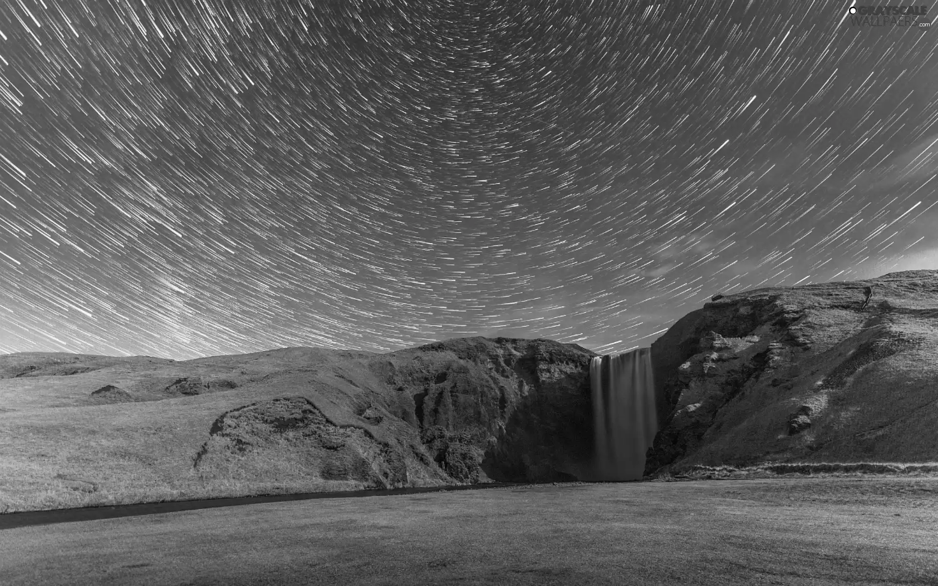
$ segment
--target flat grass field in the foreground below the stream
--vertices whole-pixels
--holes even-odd
[[[938,479],[572,484],[0,531],[3,584],[934,584]]]

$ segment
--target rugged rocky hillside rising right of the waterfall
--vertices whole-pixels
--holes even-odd
[[[938,271],[726,295],[652,356],[646,473],[938,460]]]

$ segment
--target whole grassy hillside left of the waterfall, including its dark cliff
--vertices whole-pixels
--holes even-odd
[[[572,479],[592,353],[461,338],[185,362],[0,356],[0,512]]]

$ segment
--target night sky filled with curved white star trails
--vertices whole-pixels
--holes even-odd
[[[938,268],[938,31],[850,4],[4,0],[0,353],[619,353]]]

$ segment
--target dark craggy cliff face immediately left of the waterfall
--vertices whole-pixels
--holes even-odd
[[[589,362],[576,344],[457,338],[369,361],[385,408],[461,482],[582,477],[592,455]]]

